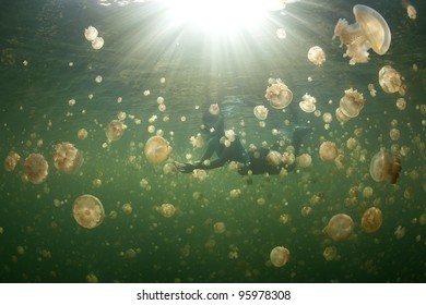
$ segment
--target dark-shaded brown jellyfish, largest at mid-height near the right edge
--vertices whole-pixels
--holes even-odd
[[[370,175],[376,182],[388,179],[391,184],[395,184],[401,169],[401,156],[399,154],[390,157],[388,152],[379,151],[371,158]]]

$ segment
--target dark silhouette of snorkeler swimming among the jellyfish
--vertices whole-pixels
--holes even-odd
[[[202,120],[203,130],[210,133],[208,148],[199,161],[192,163],[175,162],[178,171],[191,173],[196,169],[210,170],[223,167],[226,162],[232,161],[239,164],[238,173],[242,175],[263,173],[280,174],[282,170],[292,171],[294,169],[294,163],[292,166],[285,166],[282,162],[272,162],[269,158],[270,152],[273,151],[271,149],[262,147],[248,151],[236,135],[234,141],[228,142],[228,145],[225,146],[225,126],[221,114],[205,112]],[[295,156],[298,156],[301,137],[310,131],[309,127],[296,127],[293,132],[292,145],[295,149]],[[216,152],[218,158],[211,160],[214,152]]]

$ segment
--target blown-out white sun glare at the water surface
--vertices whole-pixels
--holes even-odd
[[[229,33],[257,26],[265,11],[264,0],[165,1],[175,22],[191,23],[214,33]]]

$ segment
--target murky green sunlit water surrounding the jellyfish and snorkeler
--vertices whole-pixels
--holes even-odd
[[[0,2],[0,159],[12,150],[21,156],[14,171],[0,173],[1,282],[85,282],[87,274],[99,282],[425,281],[422,1],[413,1],[416,20],[407,17],[401,1],[360,1],[387,20],[392,44],[384,56],[370,50],[370,61],[356,65],[348,64],[342,57],[345,48],[331,39],[339,17],[354,22],[356,1],[291,3],[285,14],[270,12],[257,26],[234,34],[174,24],[165,4],[110,2]],[[84,38],[90,25],[105,39],[100,50]],[[279,27],[286,30],[285,39],[276,37]],[[327,56],[322,66],[307,59],[316,45]],[[404,77],[403,111],[395,106],[400,95],[386,94],[378,83],[386,64]],[[100,83],[95,82],[97,75]],[[294,93],[284,112],[264,98],[270,77],[283,80]],[[368,84],[375,85],[376,97]],[[364,94],[365,107],[341,124],[334,112],[351,87]],[[144,96],[145,90],[151,95]],[[305,93],[317,98],[321,115],[300,110]],[[164,112],[156,102],[159,96]],[[216,102],[226,129],[233,127],[247,147],[275,142],[272,129],[289,137],[295,125],[310,126],[300,152],[311,155],[312,164],[287,175],[251,179],[225,166],[198,181],[191,174],[164,174],[166,162],[146,160],[143,146],[153,135],[147,132],[153,115],[156,131],[162,130],[173,147],[170,158],[185,161],[191,154],[197,160],[203,149],[194,149],[189,139],[200,133],[202,112]],[[257,105],[270,109],[265,127],[252,113]],[[119,141],[108,143],[105,126],[119,112],[126,112],[128,129]],[[333,114],[328,130],[322,120],[327,112]],[[389,136],[393,120],[401,133],[397,141]],[[87,138],[78,138],[80,129],[87,130]],[[355,152],[346,147],[351,137],[359,143]],[[342,168],[319,158],[323,139],[338,145],[345,158]],[[62,142],[74,144],[84,156],[76,173],[54,166],[54,148]],[[398,183],[375,182],[369,174],[372,156],[381,148],[401,147],[409,152],[402,157]],[[42,184],[22,179],[32,152],[42,154],[49,164]],[[100,187],[94,187],[95,179]],[[151,190],[141,187],[142,179]],[[374,190],[371,197],[363,196],[365,187]],[[240,190],[241,196],[232,198],[232,190]],[[82,194],[104,205],[106,216],[97,228],[84,229],[73,218],[72,205]],[[312,203],[313,196],[319,203]],[[127,215],[122,206],[129,203],[132,212]],[[157,211],[164,203],[176,207],[171,218]],[[383,222],[377,232],[366,233],[360,218],[371,206],[382,211]],[[311,208],[308,216],[301,212],[306,207]],[[355,222],[344,241],[322,233],[335,213],[347,213]],[[281,223],[281,215],[289,221]],[[215,222],[224,222],[226,231],[215,233]],[[405,234],[397,239],[400,225]],[[275,246],[291,252],[284,267],[269,261]],[[330,246],[338,256],[328,261],[323,251]],[[230,252],[237,257],[229,257]]]

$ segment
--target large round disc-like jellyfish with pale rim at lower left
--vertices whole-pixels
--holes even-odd
[[[105,210],[100,200],[93,195],[81,195],[72,206],[75,221],[86,229],[93,229],[104,221]]]

